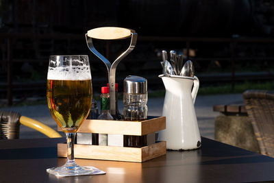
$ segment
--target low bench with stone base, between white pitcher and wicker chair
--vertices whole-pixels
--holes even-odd
[[[215,119],[215,140],[260,153],[258,141],[242,101],[213,106],[221,114]]]

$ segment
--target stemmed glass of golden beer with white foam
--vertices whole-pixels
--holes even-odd
[[[50,56],[47,73],[47,103],[53,119],[66,134],[67,161],[47,169],[57,176],[90,175],[92,167],[80,167],[74,160],[75,133],[88,116],[92,83],[88,56]]]

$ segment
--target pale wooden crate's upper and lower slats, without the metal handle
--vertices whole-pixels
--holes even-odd
[[[145,135],[166,128],[166,117],[155,117],[145,121],[86,120],[78,132],[99,134]],[[58,127],[58,131],[62,131]],[[79,145],[74,147],[75,158],[95,160],[118,160],[144,162],[166,154],[166,142],[158,142],[145,147],[114,147],[99,145]],[[58,157],[66,157],[66,143],[58,144]]]

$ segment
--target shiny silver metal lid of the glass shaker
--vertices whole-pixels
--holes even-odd
[[[124,93],[147,93],[147,79],[137,75],[125,77]]]

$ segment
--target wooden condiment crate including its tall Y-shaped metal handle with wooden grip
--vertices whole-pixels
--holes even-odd
[[[126,51],[116,58],[111,64],[108,59],[99,53],[93,43],[92,38],[101,40],[118,40],[131,38],[131,42]],[[110,87],[110,114],[115,115],[115,75],[119,62],[127,56],[135,47],[137,34],[132,29],[121,27],[99,27],[91,29],[86,34],[86,43],[92,53],[95,54],[105,64],[108,71],[108,83]],[[79,133],[109,134],[112,136],[152,136],[153,142],[145,147],[121,147],[121,146],[99,146],[75,144],[75,158],[87,158],[97,160],[119,160],[128,162],[144,162],[152,158],[157,158],[166,154],[166,142],[155,142],[155,132],[166,128],[166,117],[152,117],[145,121],[114,121],[87,119],[79,127]],[[58,127],[58,131],[61,131]],[[58,157],[66,157],[66,144],[58,144]]]

